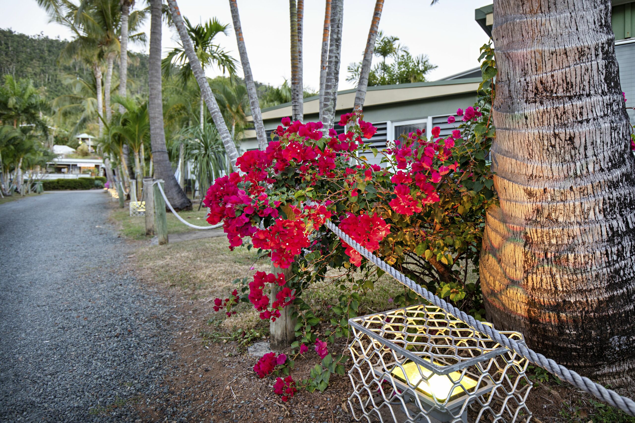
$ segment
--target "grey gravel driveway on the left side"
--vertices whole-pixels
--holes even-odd
[[[119,270],[131,252],[108,200],[0,205],[1,422],[135,421],[135,401],[168,391],[168,306]]]

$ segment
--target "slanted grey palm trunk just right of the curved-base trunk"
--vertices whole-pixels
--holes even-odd
[[[227,124],[225,124],[223,115],[220,113],[220,108],[218,108],[216,98],[214,98],[214,94],[211,92],[210,84],[208,83],[207,78],[203,73],[201,63],[196,57],[196,53],[194,53],[194,48],[192,48],[192,40],[190,40],[190,37],[187,34],[187,29],[185,29],[183,18],[181,17],[181,12],[180,10],[178,10],[177,1],[168,0],[168,6],[170,6],[172,20],[175,27],[177,27],[178,34],[181,38],[181,43],[183,44],[183,49],[185,50],[185,54],[187,55],[187,60],[189,60],[190,67],[192,68],[192,73],[194,74],[194,77],[196,77],[199,88],[203,93],[203,98],[205,100],[207,108],[210,110],[211,119],[214,121],[216,129],[218,130],[218,134],[220,135],[220,139],[223,141],[225,152],[229,157],[232,169],[234,169],[234,171],[238,171],[238,167],[236,166],[238,150],[236,150],[236,145],[234,144],[234,140],[232,139],[232,136],[227,129]]]

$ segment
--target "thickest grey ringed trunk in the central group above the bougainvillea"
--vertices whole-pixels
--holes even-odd
[[[333,120],[335,119],[337,86],[340,79],[343,17],[344,0],[333,0],[330,39],[328,44],[328,71],[326,72],[326,84],[324,84],[324,112],[322,114],[322,122],[324,122],[325,128],[333,127]]]

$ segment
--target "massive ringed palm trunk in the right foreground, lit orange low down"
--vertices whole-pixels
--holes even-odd
[[[610,0],[498,0],[488,320],[603,384],[634,381],[635,162]]]

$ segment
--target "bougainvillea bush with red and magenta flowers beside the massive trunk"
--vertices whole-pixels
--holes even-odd
[[[482,50],[478,103],[448,119],[455,126],[450,135],[441,137],[433,127],[430,133],[403,134],[378,151],[364,143],[377,129],[361,111],[340,117],[342,134],[321,122],[284,118],[267,150],[244,153],[236,162],[240,172],[216,179],[208,190],[207,220],[223,223],[229,248],[256,248],[276,269],[241,281],[231,298],[217,299],[215,309],[231,315],[242,301],[265,320],[275,321],[287,307],[298,318],[291,354],[270,353],[254,367],[260,377],[281,376],[274,389],[284,401],[298,387],[323,390],[331,374],[344,374],[344,356],[329,353],[328,344],[348,334],[347,319],[357,315],[360,296],[383,273],[327,230],[326,219],[411,279],[480,317],[478,279],[470,282],[468,272],[478,270],[485,211],[496,201],[487,160],[496,70],[491,49]],[[371,157],[380,164],[370,164]],[[327,274],[333,269],[337,277]],[[319,339],[314,328],[320,320],[302,291],[325,283],[340,289],[332,308],[339,317]],[[275,297],[268,296],[270,287],[277,288]],[[394,301],[421,299],[404,290]],[[295,357],[309,354],[321,362],[296,384],[290,374]]]

